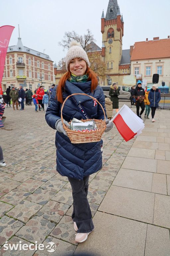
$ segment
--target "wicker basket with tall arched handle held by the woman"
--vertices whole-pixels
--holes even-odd
[[[61,121],[63,124],[63,128],[66,131],[68,138],[71,140],[71,143],[87,143],[87,142],[96,142],[96,141],[100,141],[102,138],[102,134],[104,133],[105,129],[106,129],[106,116],[105,116],[105,111],[102,107],[102,105],[97,101],[97,103],[99,103],[99,105],[101,106],[103,112],[104,112],[104,116],[105,116],[105,120],[98,120],[98,119],[86,119],[86,120],[81,120],[83,122],[86,121],[90,121],[90,120],[94,120],[96,125],[97,125],[97,130],[96,131],[89,131],[89,132],[78,132],[78,131],[74,131],[74,130],[70,130],[64,123],[63,123],[63,117],[62,117],[62,109],[64,107],[64,103],[65,101],[72,95],[86,95],[89,96],[90,98],[92,98],[93,100],[96,100],[95,98],[93,98],[90,95],[87,95],[85,93],[74,93],[69,95],[63,102],[62,107],[61,107]],[[78,111],[78,110],[77,110]],[[71,122],[69,122],[70,124]]]

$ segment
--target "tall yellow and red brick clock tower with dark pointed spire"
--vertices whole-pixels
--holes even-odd
[[[122,59],[124,22],[117,0],[109,0],[106,18],[104,12],[102,13],[101,32],[102,57],[108,68],[104,85],[111,85],[113,82],[120,84],[122,83],[120,64]]]

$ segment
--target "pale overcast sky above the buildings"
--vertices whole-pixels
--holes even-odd
[[[9,46],[16,45],[20,37],[24,46],[44,52],[52,61],[65,57],[58,45],[64,32],[75,31],[84,35],[90,29],[95,43],[102,47],[101,16],[109,0],[8,0],[1,1],[0,26],[15,29]],[[170,35],[169,0],[118,0],[124,20],[123,50],[135,42],[167,38]]]

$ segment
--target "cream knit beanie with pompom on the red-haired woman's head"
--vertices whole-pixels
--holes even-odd
[[[68,49],[65,57],[65,66],[67,71],[69,70],[70,61],[74,58],[82,58],[83,60],[85,60],[87,66],[90,66],[87,53],[85,52],[81,44],[75,40],[71,41],[70,48]]]

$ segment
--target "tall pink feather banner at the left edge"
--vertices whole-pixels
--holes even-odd
[[[14,28],[15,27],[12,26],[0,27],[0,85],[4,73],[5,58],[7,54],[8,44]]]

